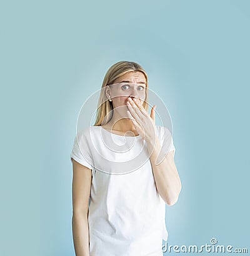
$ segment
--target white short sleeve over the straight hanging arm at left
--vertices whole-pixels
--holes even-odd
[[[88,140],[83,134],[78,134],[74,138],[74,145],[71,151],[70,159],[76,160],[81,165],[93,170],[93,159],[89,148]]]

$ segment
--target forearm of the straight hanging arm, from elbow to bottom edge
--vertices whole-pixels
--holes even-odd
[[[72,229],[76,256],[89,256],[88,215],[83,213],[73,214]]]

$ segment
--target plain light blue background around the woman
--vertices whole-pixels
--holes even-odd
[[[69,155],[109,66],[136,61],[173,120],[169,245],[249,248],[249,1],[4,1],[3,256],[74,255]],[[171,252],[175,254],[174,252]]]

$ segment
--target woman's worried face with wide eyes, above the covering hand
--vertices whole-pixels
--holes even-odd
[[[114,110],[122,116],[127,116],[128,106],[126,102],[129,96],[139,98],[141,104],[146,99],[146,78],[139,71],[124,74],[107,87],[106,95],[111,96]]]

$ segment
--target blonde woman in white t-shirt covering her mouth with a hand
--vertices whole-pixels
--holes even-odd
[[[76,256],[163,255],[165,204],[178,201],[181,181],[171,133],[155,125],[156,106],[149,116],[147,100],[146,71],[119,61],[104,77],[95,125],[75,138]],[[166,143],[169,152],[159,163]]]

